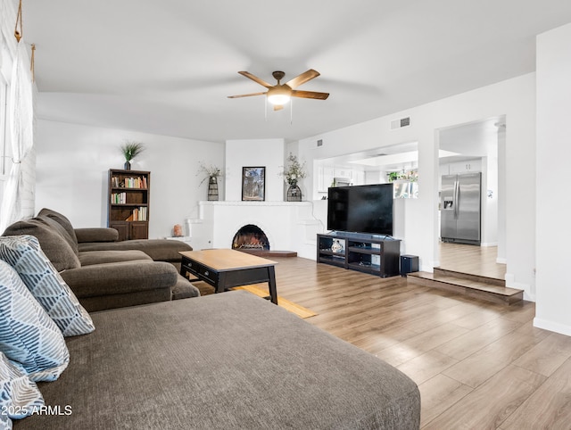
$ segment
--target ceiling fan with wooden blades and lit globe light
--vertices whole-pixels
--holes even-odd
[[[228,98],[239,98],[239,97],[250,97],[252,95],[266,95],[268,97],[269,103],[274,105],[274,111],[279,111],[284,109],[284,104],[290,101],[291,97],[301,97],[301,98],[313,98],[317,100],[325,100],[329,96],[329,93],[318,93],[316,91],[299,91],[296,87],[306,83],[308,80],[317,78],[319,76],[319,71],[317,70],[307,70],[301,75],[287,81],[282,84],[280,81],[284,79],[285,73],[283,71],[274,71],[272,76],[277,80],[276,85],[271,85],[263,79],[252,75],[252,73],[247,71],[238,71],[242,76],[248,79],[252,79],[254,82],[259,83],[262,87],[268,88],[268,91],[261,93],[251,93],[243,95],[228,95]]]

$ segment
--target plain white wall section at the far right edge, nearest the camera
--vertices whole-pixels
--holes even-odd
[[[534,325],[571,335],[571,24],[537,37],[537,306]],[[509,129],[508,129],[509,135]]]

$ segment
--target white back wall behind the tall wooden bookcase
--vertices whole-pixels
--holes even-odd
[[[132,169],[151,171],[149,237],[171,236],[206,200],[199,162],[223,169],[223,144],[38,120],[36,210],[61,211],[75,227],[105,227],[108,170],[123,168],[126,140],[146,148]]]

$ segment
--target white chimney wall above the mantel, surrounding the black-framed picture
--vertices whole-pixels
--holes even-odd
[[[226,142],[226,200],[242,200],[242,168],[266,168],[266,202],[284,201],[284,139],[228,140]]]

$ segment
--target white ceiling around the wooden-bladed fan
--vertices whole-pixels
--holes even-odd
[[[17,4],[17,0],[13,0]],[[568,0],[24,0],[40,118],[223,142],[343,128],[534,71]],[[293,112],[263,91],[308,69]],[[290,119],[293,118],[293,121]]]

